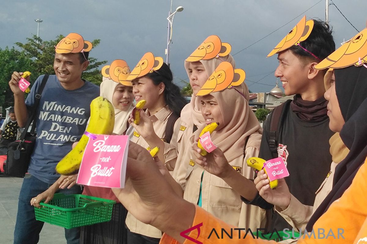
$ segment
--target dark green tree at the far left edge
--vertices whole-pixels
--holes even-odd
[[[30,71],[33,72],[33,61],[29,59],[24,51],[19,51],[14,47],[9,49],[0,48],[0,106],[5,108],[14,104],[13,93],[9,88],[9,80],[13,71]]]

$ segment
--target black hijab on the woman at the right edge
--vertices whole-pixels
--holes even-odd
[[[339,199],[352,184],[367,156],[367,68],[353,65],[334,72],[335,91],[345,120],[340,137],[350,151],[335,168],[333,189],[310,218],[306,226],[308,231],[312,230],[330,204]]]

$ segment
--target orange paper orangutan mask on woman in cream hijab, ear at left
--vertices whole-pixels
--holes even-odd
[[[104,77],[111,78],[114,82],[121,83],[124,86],[132,86],[132,83],[127,80],[130,75],[130,68],[125,60],[114,60],[110,65],[104,66],[101,72]]]

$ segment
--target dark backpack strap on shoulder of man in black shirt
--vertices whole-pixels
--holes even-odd
[[[273,154],[273,158],[278,157],[277,147],[279,139],[279,131],[283,125],[283,119],[286,116],[288,105],[292,100],[287,100],[283,104],[275,107],[270,118],[270,129],[269,129],[269,148]],[[284,109],[285,108],[285,109]]]

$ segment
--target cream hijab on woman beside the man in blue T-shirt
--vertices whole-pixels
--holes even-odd
[[[107,98],[112,103],[112,96],[115,92],[117,85],[120,83],[103,77],[103,81],[100,87],[100,95]],[[127,129],[127,120],[130,116],[131,110],[134,108],[133,104],[127,111],[123,111],[115,108],[115,127],[113,127],[113,133],[122,135]]]

